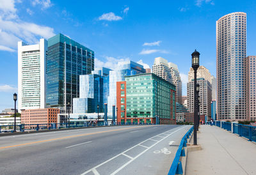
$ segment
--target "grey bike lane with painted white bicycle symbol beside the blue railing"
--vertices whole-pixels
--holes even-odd
[[[164,138],[166,135],[161,135],[164,139],[161,137],[152,138],[150,143],[148,142],[143,145],[149,146],[157,140],[159,141],[159,139],[163,139],[163,141],[148,149],[143,155],[138,156],[114,174],[168,174],[177,149],[179,148],[180,141],[190,128],[191,126],[184,126],[178,132],[166,132],[166,134],[172,134],[166,138]],[[127,153],[127,155],[134,158],[134,154],[132,155],[132,153]]]

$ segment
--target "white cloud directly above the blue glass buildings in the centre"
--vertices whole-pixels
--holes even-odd
[[[104,68],[110,68],[111,70],[116,70],[118,62],[131,60],[129,57],[115,58],[115,57],[109,57],[109,56],[106,56],[105,59],[106,59],[106,62],[100,61],[99,59],[95,58],[94,60],[95,67],[97,68],[104,67]]]

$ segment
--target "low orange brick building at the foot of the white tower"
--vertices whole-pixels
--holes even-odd
[[[21,112],[21,124],[49,124],[57,123],[60,109],[26,109]]]

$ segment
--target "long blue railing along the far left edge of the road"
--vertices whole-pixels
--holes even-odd
[[[45,123],[45,124],[21,124],[16,125],[16,131],[17,132],[24,132],[24,131],[31,131],[31,130],[52,130],[52,129],[61,129],[61,128],[81,128],[81,127],[95,127],[95,126],[108,126],[109,124],[107,122],[99,122],[99,123],[93,123],[93,122],[83,122],[82,124],[70,122],[70,125],[68,127],[68,123]],[[156,125],[152,123],[111,123],[110,126],[113,125]],[[14,125],[1,125],[0,126],[0,133],[1,132],[14,132]]]

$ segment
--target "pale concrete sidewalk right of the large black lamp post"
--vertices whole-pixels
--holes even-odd
[[[202,149],[188,152],[186,174],[256,174],[255,143],[218,126],[200,125],[199,131]]]

